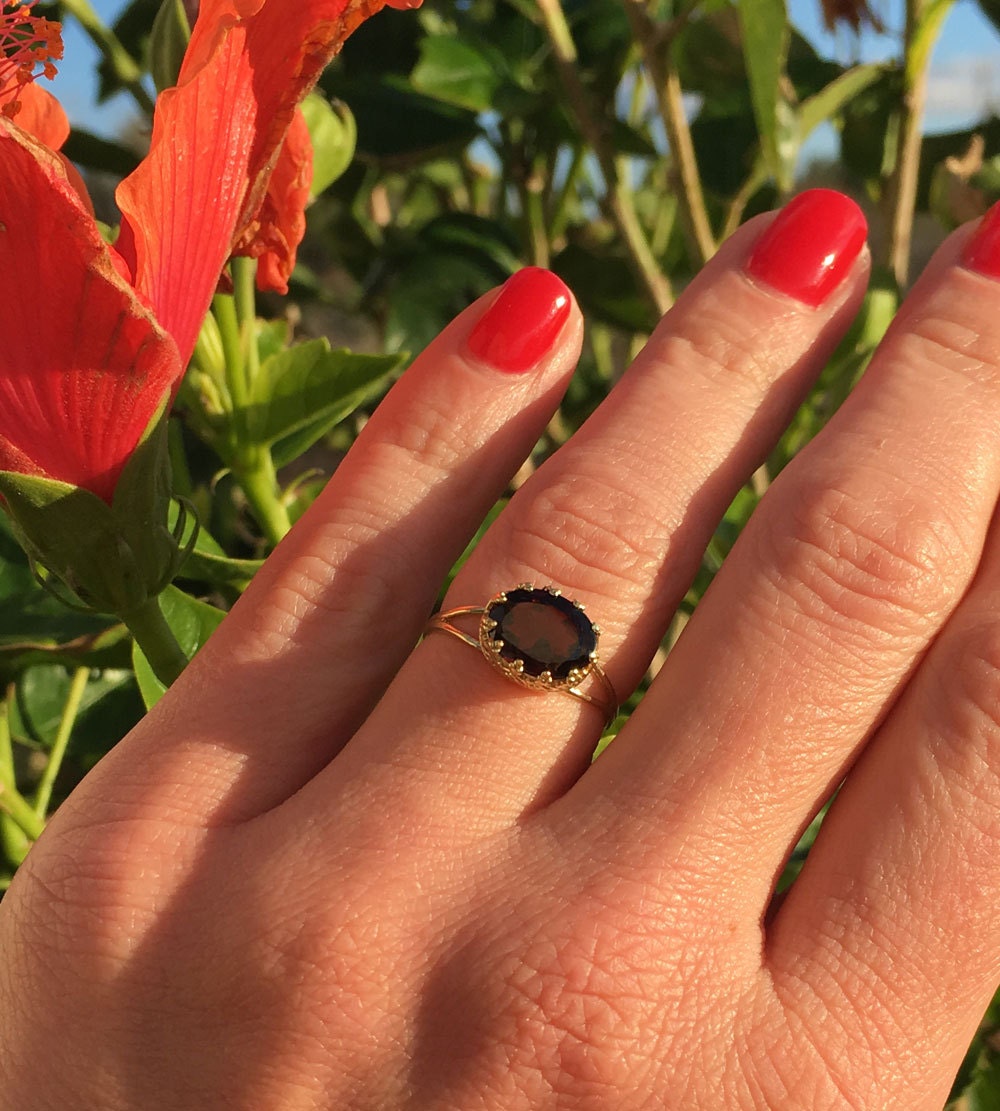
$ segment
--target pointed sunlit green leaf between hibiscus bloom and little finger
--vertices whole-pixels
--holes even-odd
[[[282,466],[352,413],[401,361],[396,354],[331,351],[324,338],[279,351],[253,381],[250,442],[276,444],[274,462]]]

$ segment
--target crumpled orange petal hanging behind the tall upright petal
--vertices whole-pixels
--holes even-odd
[[[296,251],[306,234],[306,206],[312,183],[312,140],[302,110],[292,117],[268,191],[253,220],[233,244],[233,254],[257,259],[257,287],[288,292]]]

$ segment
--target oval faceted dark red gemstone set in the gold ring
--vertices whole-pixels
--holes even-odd
[[[597,649],[597,633],[587,614],[548,590],[509,590],[503,601],[489,607],[487,618],[497,622],[488,635],[503,642],[500,658],[520,660],[526,675],[548,671],[553,679],[568,679],[572,670],[590,663]]]

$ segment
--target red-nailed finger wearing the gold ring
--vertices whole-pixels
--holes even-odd
[[[851,201],[814,191],[733,237],[608,401],[521,488],[446,609],[482,604],[523,581],[556,583],[602,628],[607,671],[627,694],[733,492],[853,313],[863,236]],[[809,286],[818,276],[822,288]],[[436,633],[330,775],[391,763],[418,811],[482,828],[563,790],[600,727],[593,707],[526,691],[476,650]],[[317,781],[320,793],[330,789],[324,782]]]

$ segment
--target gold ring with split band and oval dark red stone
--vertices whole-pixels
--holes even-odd
[[[479,635],[453,624],[463,617],[479,618]],[[598,660],[601,630],[583,607],[556,587],[522,582],[494,594],[486,605],[441,610],[427,623],[426,633],[439,629],[478,648],[508,679],[534,691],[571,694],[590,702],[610,724],[618,713],[618,695]],[[593,693],[581,690],[597,680]]]

